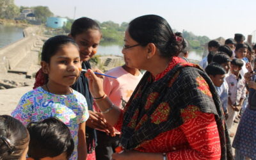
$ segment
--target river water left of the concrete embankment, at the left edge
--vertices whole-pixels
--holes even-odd
[[[23,28],[0,25],[0,48],[23,38]]]

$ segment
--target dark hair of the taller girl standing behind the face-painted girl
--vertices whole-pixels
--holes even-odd
[[[100,31],[100,26],[97,22],[95,22],[95,20],[89,19],[87,17],[81,17],[73,22],[70,35],[72,37],[76,37],[76,35],[79,35],[84,31],[88,31],[88,29],[95,29]]]

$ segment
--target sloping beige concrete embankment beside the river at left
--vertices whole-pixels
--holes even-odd
[[[39,36],[40,26],[24,29],[24,38],[0,49],[0,73],[28,74],[38,65],[38,54],[43,42]]]

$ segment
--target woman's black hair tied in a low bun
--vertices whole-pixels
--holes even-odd
[[[156,45],[160,56],[164,58],[177,56],[182,49],[182,40],[177,42],[168,22],[158,15],[143,15],[132,20],[127,31],[141,46],[149,43]]]

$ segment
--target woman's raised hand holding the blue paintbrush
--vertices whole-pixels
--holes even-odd
[[[102,73],[100,70],[94,70],[95,72]],[[90,69],[87,70],[85,76],[89,79],[89,89],[92,93],[92,96],[95,97],[102,97],[105,95],[103,90],[103,79],[104,76],[94,74],[94,72]]]

